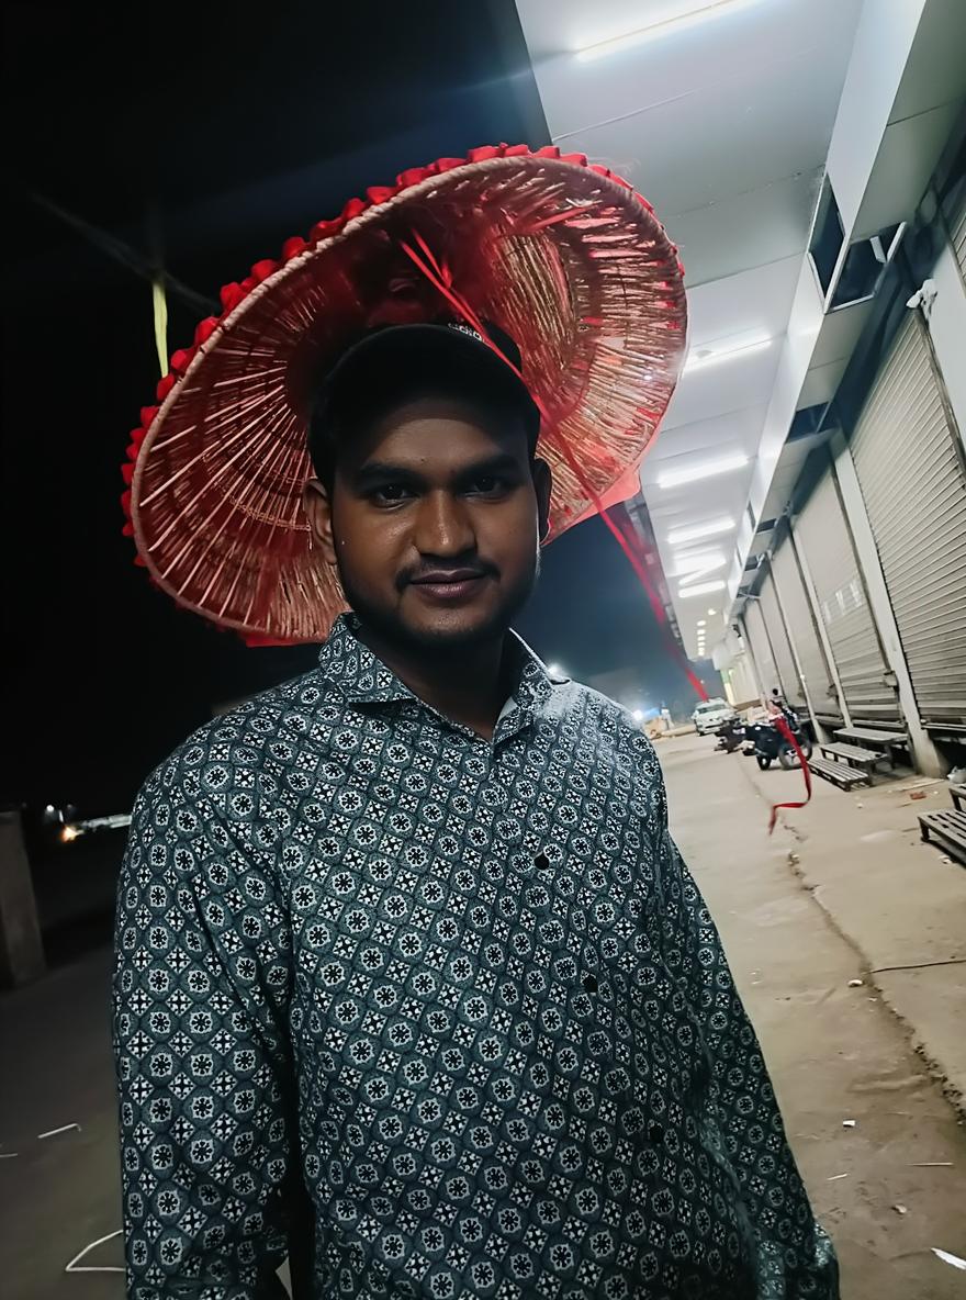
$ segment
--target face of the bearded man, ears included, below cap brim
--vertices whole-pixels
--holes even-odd
[[[549,499],[521,420],[426,398],[356,437],[306,508],[363,624],[426,651],[502,636],[533,590]]]

